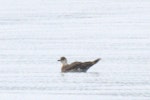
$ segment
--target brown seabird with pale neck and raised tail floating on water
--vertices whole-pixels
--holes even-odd
[[[87,62],[73,62],[71,64],[67,63],[66,57],[61,57],[58,61],[62,63],[61,72],[87,72],[87,70],[99,62],[101,58],[98,58],[94,61]]]

